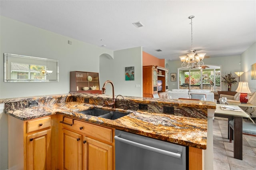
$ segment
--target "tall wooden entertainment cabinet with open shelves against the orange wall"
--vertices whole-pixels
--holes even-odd
[[[166,98],[168,91],[168,69],[148,65],[143,66],[143,97],[153,97],[158,93],[160,98]]]

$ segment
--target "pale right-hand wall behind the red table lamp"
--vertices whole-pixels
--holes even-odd
[[[249,88],[256,91],[256,79],[251,79],[251,65],[256,63],[256,43],[252,44],[241,55],[241,71],[244,71],[240,81],[247,81]]]

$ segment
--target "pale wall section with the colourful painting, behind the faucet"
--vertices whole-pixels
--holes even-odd
[[[134,66],[134,81],[125,81],[125,67]],[[111,80],[115,95],[142,97],[142,47],[114,51],[114,59],[100,57],[100,86]],[[136,87],[140,85],[140,87]],[[112,87],[106,85],[106,94],[112,95]]]

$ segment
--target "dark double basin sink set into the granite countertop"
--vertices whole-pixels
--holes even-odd
[[[107,110],[96,109],[96,108],[85,110],[85,111],[79,111],[78,113],[96,116],[96,117],[102,117],[102,118],[111,119],[111,120],[115,120],[130,114],[130,113],[117,112],[117,111],[107,111]]]

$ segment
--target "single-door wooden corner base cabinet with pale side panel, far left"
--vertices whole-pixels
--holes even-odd
[[[22,121],[8,117],[9,169],[51,168],[51,118]]]

